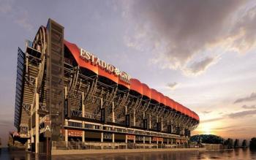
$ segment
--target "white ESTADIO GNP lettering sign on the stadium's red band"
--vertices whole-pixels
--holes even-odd
[[[80,58],[82,58],[85,61],[90,61],[91,64],[97,65],[102,69],[105,69],[107,72],[113,73],[114,75],[120,77],[121,80],[124,80],[127,83],[129,83],[129,80],[131,79],[131,76],[128,75],[126,72],[120,71],[112,64],[106,63],[105,61],[99,59],[97,56],[94,56],[94,54],[89,53],[86,50],[83,50],[83,48],[80,48]]]

